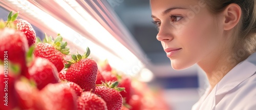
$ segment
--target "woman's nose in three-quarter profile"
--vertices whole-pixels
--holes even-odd
[[[173,35],[171,27],[162,24],[159,27],[159,32],[157,34],[157,40],[159,41],[170,41],[173,40]]]

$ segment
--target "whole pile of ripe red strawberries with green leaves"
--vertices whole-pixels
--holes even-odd
[[[0,21],[0,109],[146,108],[146,96],[140,95],[143,92],[130,77],[107,61],[98,66],[89,58],[89,48],[83,55],[71,55],[59,34],[40,41],[32,26],[17,15],[10,12],[7,21]]]

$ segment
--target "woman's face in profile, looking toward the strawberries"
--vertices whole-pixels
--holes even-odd
[[[221,24],[203,0],[151,0],[152,18],[175,70],[212,57],[221,42]]]

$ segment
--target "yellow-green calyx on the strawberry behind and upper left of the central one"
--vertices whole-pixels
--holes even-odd
[[[39,39],[37,39],[37,42],[38,40]],[[69,54],[69,48],[67,48],[68,43],[67,41],[62,41],[62,36],[60,34],[57,35],[56,39],[53,39],[52,36],[47,36],[47,34],[45,34],[45,38],[42,42],[49,43],[64,55]]]

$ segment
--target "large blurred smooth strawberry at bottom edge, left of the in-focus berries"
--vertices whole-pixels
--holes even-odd
[[[77,96],[65,83],[50,83],[40,91],[38,96],[45,103],[46,110],[77,109]]]

